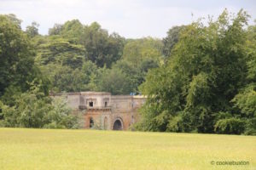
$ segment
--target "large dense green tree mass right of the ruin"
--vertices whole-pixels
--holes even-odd
[[[256,133],[255,26],[248,15],[186,26],[166,65],[149,71],[138,129]]]

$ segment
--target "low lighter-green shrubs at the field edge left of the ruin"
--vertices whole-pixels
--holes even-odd
[[[50,99],[38,86],[15,96],[14,104],[0,102],[1,127],[79,128],[79,117],[72,114],[67,99]]]

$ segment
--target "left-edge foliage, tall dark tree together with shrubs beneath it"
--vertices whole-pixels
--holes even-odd
[[[65,101],[48,96],[49,79],[34,62],[36,32],[21,31],[15,15],[0,15],[0,127],[77,128]]]

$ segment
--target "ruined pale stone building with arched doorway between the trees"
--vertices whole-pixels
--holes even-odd
[[[105,92],[79,92],[64,94],[67,104],[75,112],[82,113],[84,128],[106,130],[127,130],[138,120],[137,109],[146,98],[144,96],[111,95]],[[60,97],[52,94],[51,97]]]

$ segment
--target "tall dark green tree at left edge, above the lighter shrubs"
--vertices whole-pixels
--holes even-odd
[[[24,92],[29,88],[27,82],[44,79],[34,65],[34,55],[20,20],[15,15],[0,15],[0,96],[7,88]]]

